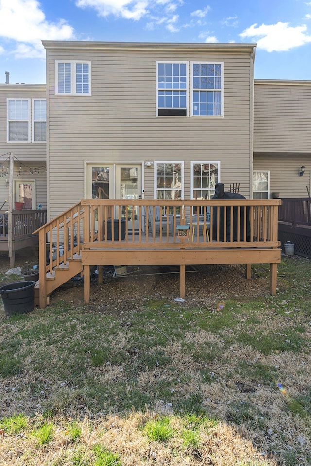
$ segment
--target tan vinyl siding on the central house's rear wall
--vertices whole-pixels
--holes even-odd
[[[189,199],[190,161],[219,160],[225,186],[240,182],[249,197],[251,51],[49,48],[50,217],[83,197],[84,161],[184,160]],[[91,97],[55,96],[56,59],[91,60]],[[224,117],[156,117],[157,60],[223,61]],[[154,196],[153,171],[145,169],[145,198]]]

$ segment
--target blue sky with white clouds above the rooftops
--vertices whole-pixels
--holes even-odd
[[[45,83],[41,40],[257,43],[255,78],[311,80],[308,0],[0,0],[0,83]]]

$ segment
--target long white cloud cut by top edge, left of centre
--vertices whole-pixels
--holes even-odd
[[[94,8],[99,16],[115,15],[138,21],[148,13],[147,0],[77,0],[80,8]]]

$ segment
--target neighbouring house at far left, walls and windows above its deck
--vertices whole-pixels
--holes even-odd
[[[47,208],[46,86],[0,84],[0,207],[9,197],[9,154],[14,153],[13,201]],[[3,209],[8,208],[4,203]]]

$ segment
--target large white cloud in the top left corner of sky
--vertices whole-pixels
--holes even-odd
[[[41,40],[74,38],[74,30],[64,20],[47,21],[36,0],[0,0],[0,37],[17,43],[18,58],[44,58]]]

